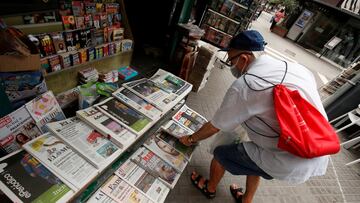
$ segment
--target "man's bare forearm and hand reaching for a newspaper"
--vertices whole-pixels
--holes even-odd
[[[184,136],[180,138],[180,142],[186,146],[190,146],[200,140],[204,140],[208,137],[211,137],[215,133],[219,132],[220,130],[213,126],[211,122],[205,123],[197,132],[192,135]],[[190,139],[191,138],[191,139]]]

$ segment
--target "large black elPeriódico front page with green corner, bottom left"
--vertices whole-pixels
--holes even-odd
[[[24,150],[0,160],[0,188],[13,202],[67,202],[74,194]]]

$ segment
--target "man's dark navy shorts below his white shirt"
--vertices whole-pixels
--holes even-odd
[[[214,150],[214,158],[233,175],[253,175],[268,180],[273,179],[250,159],[243,144],[218,146]]]

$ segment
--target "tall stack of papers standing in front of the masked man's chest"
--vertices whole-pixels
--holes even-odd
[[[193,91],[200,91],[205,87],[211,69],[214,67],[216,56],[214,51],[209,47],[201,46],[199,48],[198,56],[195,60],[195,65],[191,70],[188,82],[193,84]]]

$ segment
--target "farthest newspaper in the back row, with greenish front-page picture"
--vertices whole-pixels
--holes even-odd
[[[177,95],[187,95],[191,89],[192,85],[181,78],[159,69],[151,78],[156,86],[160,87],[162,90],[168,93],[175,93]]]

